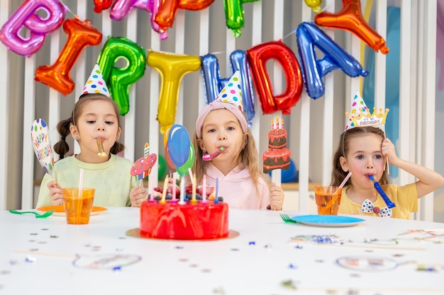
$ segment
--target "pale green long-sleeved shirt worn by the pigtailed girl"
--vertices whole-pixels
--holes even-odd
[[[127,158],[111,154],[105,163],[84,163],[75,156],[57,161],[52,177],[45,174],[40,185],[37,208],[51,206],[47,184],[55,180],[61,187],[79,187],[80,169],[84,169],[83,187],[94,187],[94,206],[125,207],[131,205],[130,191],[138,186],[131,176],[133,163]]]

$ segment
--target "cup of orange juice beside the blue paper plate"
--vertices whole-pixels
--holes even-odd
[[[314,187],[318,214],[338,215],[342,191],[343,189],[338,187]]]

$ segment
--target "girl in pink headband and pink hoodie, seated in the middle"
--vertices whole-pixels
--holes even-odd
[[[197,183],[209,186],[231,208],[282,210],[284,191],[268,187],[260,170],[255,140],[243,113],[240,75],[236,71],[216,100],[199,112],[193,136]]]

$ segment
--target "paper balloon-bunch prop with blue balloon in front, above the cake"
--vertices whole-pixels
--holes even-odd
[[[179,175],[187,175],[194,164],[194,146],[187,129],[182,125],[169,126],[164,134],[164,142],[165,137],[165,156],[170,158]]]

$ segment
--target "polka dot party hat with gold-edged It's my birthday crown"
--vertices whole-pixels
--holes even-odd
[[[350,112],[345,112],[345,115],[348,115],[349,118],[345,130],[355,127],[384,125],[388,113],[388,108],[385,109],[385,112],[382,112],[382,108],[377,110],[376,107],[373,108],[373,112],[370,112],[359,91],[356,91]]]

